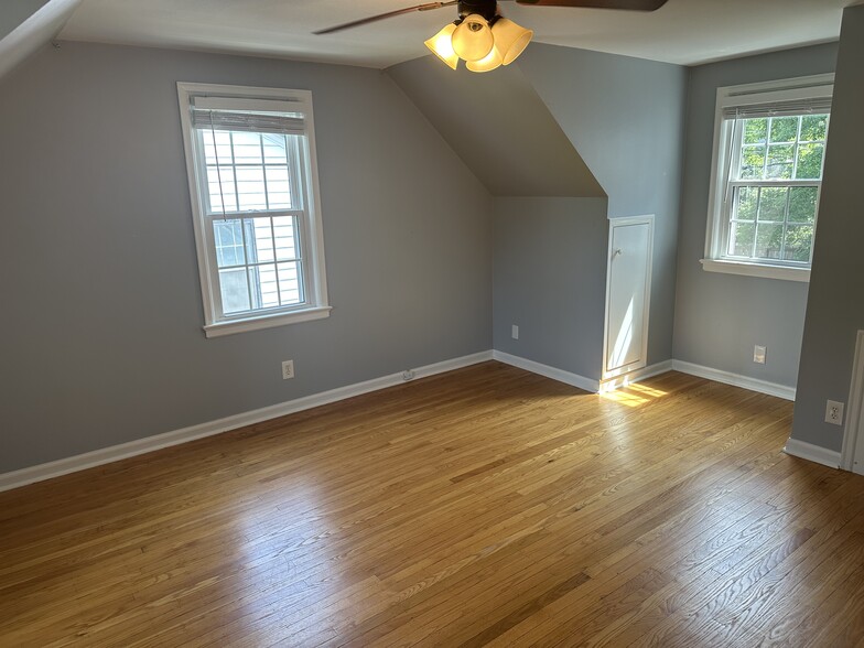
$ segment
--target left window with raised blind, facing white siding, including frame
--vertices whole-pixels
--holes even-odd
[[[205,333],[326,317],[311,94],[177,88]]]

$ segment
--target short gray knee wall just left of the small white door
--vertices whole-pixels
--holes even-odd
[[[496,350],[600,379],[606,207],[606,198],[495,199]]]

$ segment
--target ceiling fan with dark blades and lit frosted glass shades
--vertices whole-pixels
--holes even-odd
[[[507,1],[507,0],[500,0]],[[622,9],[625,11],[655,11],[667,0],[515,0],[517,4],[537,7],[573,7],[591,9]],[[426,2],[387,11],[314,32],[331,34],[342,30],[395,18],[414,11],[430,11],[456,4],[458,18],[425,41],[426,47],[456,69],[460,58],[472,72],[488,72],[499,65],[512,63],[528,45],[533,32],[504,18],[496,0],[452,0]]]

